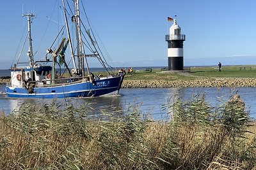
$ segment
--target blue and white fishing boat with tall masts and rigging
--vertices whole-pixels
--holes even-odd
[[[27,53],[29,60],[28,62],[19,62],[18,59],[14,66],[11,67],[11,78],[6,85],[6,95],[8,97],[96,97],[118,94],[124,79],[124,72],[117,72],[106,62],[90,27],[87,15],[85,15],[87,25],[80,16],[79,4],[81,2],[79,0],[70,2],[74,5],[74,15],[68,18],[71,12],[68,12],[65,8],[67,6],[65,3],[67,2],[62,0],[65,24],[58,32],[54,43],[56,39],[61,39],[61,41],[59,41],[60,43],[56,45],[55,49],[52,49],[53,45],[48,48],[44,60],[34,60],[31,23],[35,15],[33,13],[22,15],[28,18],[26,40],[29,45]],[[70,10],[70,4],[68,4],[68,7]],[[71,28],[75,29],[75,38],[71,37]],[[64,35],[67,37],[64,37]],[[70,39],[75,39],[76,41],[70,41]],[[68,66],[65,57],[68,46],[71,55],[70,61],[72,60],[71,68]],[[107,74],[102,76],[91,73],[88,66],[88,57],[99,60],[102,67],[106,69]]]

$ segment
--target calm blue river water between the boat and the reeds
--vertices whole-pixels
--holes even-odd
[[[2,85],[2,92],[4,85]],[[1,92],[1,86],[0,86]],[[250,110],[250,116],[256,118],[256,100],[255,87],[241,87],[231,89],[228,87],[212,88],[159,88],[159,89],[122,89],[121,94],[114,96],[102,96],[91,98],[60,98],[60,99],[19,99],[10,98],[4,94],[0,97],[0,111],[10,114],[12,110],[17,110],[20,104],[35,103],[35,104],[52,104],[56,101],[60,108],[72,104],[75,108],[81,108],[86,105],[85,110],[92,114],[93,117],[99,118],[99,115],[104,115],[104,111],[114,112],[118,115],[127,114],[129,108],[137,107],[142,117],[148,113],[153,120],[170,120],[172,104],[180,99],[188,101],[194,99],[194,96],[205,94],[205,102],[212,107],[219,106],[223,102],[227,102],[232,94],[239,94],[246,104],[246,111]],[[67,103],[67,105],[66,105]],[[164,108],[165,107],[165,108]]]

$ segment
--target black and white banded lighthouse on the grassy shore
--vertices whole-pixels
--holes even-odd
[[[168,42],[168,70],[184,70],[183,41],[186,40],[186,37],[184,34],[181,34],[176,19],[170,27],[170,34],[166,35],[165,39]]]

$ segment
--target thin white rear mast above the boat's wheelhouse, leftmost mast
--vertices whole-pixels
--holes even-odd
[[[27,17],[28,18],[28,41],[29,41],[29,49],[28,49],[28,57],[29,57],[29,66],[33,67],[34,64],[34,59],[33,59],[33,47],[32,47],[32,37],[31,37],[31,18],[35,17],[33,13],[31,14],[24,14],[22,17]]]

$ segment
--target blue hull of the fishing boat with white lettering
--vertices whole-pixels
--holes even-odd
[[[8,97],[61,98],[61,97],[96,97],[118,91],[122,85],[123,76],[95,80],[93,83],[82,81],[66,83],[49,87],[35,87],[33,92],[22,87],[6,86]]]

